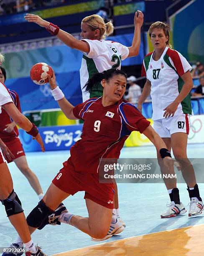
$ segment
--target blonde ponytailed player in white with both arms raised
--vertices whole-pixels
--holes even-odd
[[[81,36],[82,40],[77,40],[71,34],[59,29],[58,26],[49,23],[46,20],[41,19],[38,15],[26,14],[25,19],[28,22],[35,22],[41,27],[44,27],[52,35],[57,36],[67,46],[82,51],[82,65],[80,69],[80,80],[82,88],[83,102],[90,97],[101,97],[103,93],[103,87],[100,83],[86,91],[84,85],[93,74],[103,72],[110,68],[121,68],[121,60],[128,57],[137,56],[140,49],[140,29],[143,24],[143,13],[137,11],[134,17],[135,31],[132,46],[126,47],[120,43],[105,40],[106,36],[109,36],[113,32],[112,22],[105,24],[103,18],[99,15],[90,15],[82,20],[81,24]],[[115,209],[113,213],[117,214],[117,218],[123,224],[120,233],[124,230],[125,223],[120,218],[117,184],[114,185],[115,190]]]

